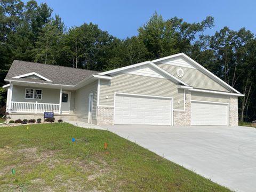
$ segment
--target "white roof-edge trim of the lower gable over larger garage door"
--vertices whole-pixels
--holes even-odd
[[[137,64],[134,64],[134,65],[130,65],[130,66],[126,66],[126,67],[121,67],[121,68],[105,71],[105,72],[99,73],[98,75],[116,74],[116,73],[119,73],[121,71],[125,71],[127,69],[132,69],[132,68],[136,68],[136,67],[140,67],[140,66],[146,66],[146,65],[149,65],[149,66],[153,67],[154,69],[156,69],[157,71],[160,71],[162,74],[166,75],[167,77],[170,77],[170,79],[172,79],[172,81],[174,81],[174,82],[176,82],[178,84],[181,84],[181,85],[188,86],[187,83],[185,83],[185,82],[181,81],[180,79],[178,79],[177,77],[171,75],[170,73],[168,73],[167,71],[165,71],[161,67],[158,67],[155,63],[153,63],[151,61],[145,61],[145,62],[137,63]]]

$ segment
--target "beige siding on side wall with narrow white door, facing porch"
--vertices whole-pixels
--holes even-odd
[[[89,95],[90,93],[93,93],[92,119],[96,119],[97,87],[98,81],[95,81],[89,85],[85,85],[84,87],[76,90],[74,114],[78,115],[79,118],[83,118],[85,120],[88,119]]]

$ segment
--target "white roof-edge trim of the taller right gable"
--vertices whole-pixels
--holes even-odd
[[[211,71],[209,71],[206,68],[204,68],[198,62],[196,62],[195,60],[193,60],[190,57],[188,57],[188,55],[186,55],[185,53],[178,53],[178,54],[170,55],[170,56],[167,56],[167,57],[164,57],[164,58],[153,60],[152,62],[153,63],[157,63],[157,62],[164,61],[164,60],[171,59],[171,58],[175,58],[175,57],[183,57],[183,58],[189,60],[198,70],[202,71],[204,74],[206,74],[207,76],[212,78],[214,81],[218,82],[220,85],[222,85],[224,87],[227,87],[229,90],[234,91],[234,92],[236,92],[238,94],[242,94],[239,91],[237,91],[236,89],[234,89],[234,87],[230,86],[225,81],[223,81],[222,79],[220,79],[219,77],[217,77],[216,75],[211,73]]]

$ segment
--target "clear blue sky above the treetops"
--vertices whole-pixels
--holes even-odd
[[[25,1],[26,2],[26,1]],[[201,22],[214,17],[214,27],[205,34],[228,26],[232,30],[245,27],[256,34],[255,0],[37,0],[47,3],[53,14],[59,14],[67,27],[94,23],[110,35],[126,38],[138,34],[155,12],[165,20],[183,18],[186,22]]]

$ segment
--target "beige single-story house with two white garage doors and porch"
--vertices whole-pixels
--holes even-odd
[[[6,75],[12,119],[98,125],[238,125],[243,96],[184,53],[105,72],[14,60]]]

